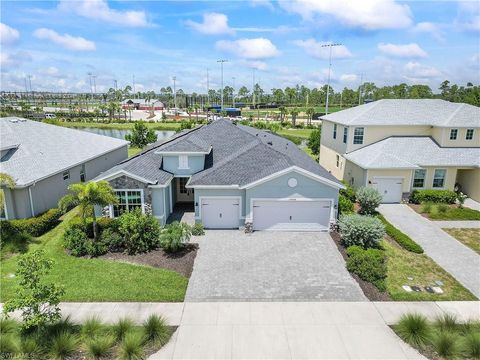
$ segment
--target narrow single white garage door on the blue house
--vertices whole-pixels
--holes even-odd
[[[201,217],[207,229],[238,228],[240,218],[239,198],[202,198]]]

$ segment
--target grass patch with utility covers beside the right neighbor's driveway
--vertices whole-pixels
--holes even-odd
[[[425,254],[415,254],[402,249],[393,240],[385,239],[382,246],[387,254],[387,291],[396,301],[436,301],[436,300],[476,300],[455,278],[437,265]],[[413,280],[408,280],[412,277]],[[436,286],[434,282],[443,282],[443,294],[406,292],[402,285]]]

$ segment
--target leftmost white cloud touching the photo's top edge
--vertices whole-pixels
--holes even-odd
[[[58,8],[63,11],[72,11],[77,15],[89,19],[101,20],[110,24],[127,27],[148,26],[145,11],[121,11],[111,9],[106,0],[61,0]]]

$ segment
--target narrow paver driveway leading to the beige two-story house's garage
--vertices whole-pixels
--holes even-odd
[[[447,270],[475,296],[480,297],[480,256],[417,214],[408,205],[382,204],[380,213],[420,244],[425,253]]]

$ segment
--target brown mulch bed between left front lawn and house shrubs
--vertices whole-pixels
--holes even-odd
[[[123,261],[173,270],[187,278],[190,278],[190,275],[192,275],[193,263],[195,261],[195,257],[197,256],[197,251],[198,244],[187,244],[183,250],[174,254],[167,253],[162,249],[158,249],[137,255],[107,253],[99,256],[99,259]]]

